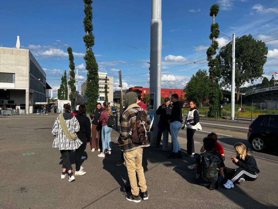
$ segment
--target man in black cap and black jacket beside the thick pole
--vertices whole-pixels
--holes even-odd
[[[169,120],[170,120],[170,116],[171,116],[171,112],[172,112],[172,105],[170,105],[170,98],[166,97],[164,99],[164,102],[165,103],[163,105],[159,106],[157,111],[156,111],[156,114],[160,115],[159,121],[158,121],[158,132],[157,132],[157,137],[156,137],[157,138],[156,147],[159,147],[161,137],[162,137],[162,133],[165,129],[171,134]],[[165,138],[163,137],[162,150],[163,151],[168,151],[168,137],[167,137],[167,140]],[[164,143],[164,140],[165,140],[165,143]]]

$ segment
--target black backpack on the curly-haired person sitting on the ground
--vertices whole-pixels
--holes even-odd
[[[221,156],[213,151],[206,151],[200,156],[202,178],[208,182],[217,182]]]

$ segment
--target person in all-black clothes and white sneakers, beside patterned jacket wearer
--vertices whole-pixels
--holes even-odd
[[[75,176],[84,175],[86,172],[81,167],[81,157],[86,149],[86,146],[90,145],[91,140],[91,123],[90,119],[86,116],[86,106],[80,105],[78,107],[78,113],[75,116],[78,120],[80,130],[77,132],[78,138],[82,141],[82,145],[75,150]]]

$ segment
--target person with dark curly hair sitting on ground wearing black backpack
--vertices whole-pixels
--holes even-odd
[[[214,182],[214,181],[208,181],[208,179],[206,178],[211,176],[216,176],[216,177],[223,176],[224,178],[223,168],[225,165],[223,159],[221,158],[221,155],[213,151],[213,148],[216,145],[216,139],[213,137],[205,137],[203,139],[203,142],[204,142],[204,149],[206,150],[206,152],[200,154],[196,159],[196,163],[194,167],[196,170],[196,181],[200,185],[208,187],[209,189],[213,190],[214,183],[218,183],[217,181],[219,181],[219,179],[217,179],[216,182]],[[217,163],[217,168],[210,166],[209,169],[206,169],[207,166],[205,164],[204,158],[209,160],[210,164],[211,164],[211,160],[213,160],[213,163]],[[212,175],[212,174],[216,174],[216,175]],[[218,187],[218,184],[216,185],[216,187]]]

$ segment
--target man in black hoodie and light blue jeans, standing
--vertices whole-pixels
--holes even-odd
[[[181,109],[183,107],[183,103],[179,101],[178,94],[172,94],[171,100],[172,100],[173,108],[170,116],[170,130],[171,130],[171,139],[173,143],[173,151],[172,154],[169,155],[167,158],[177,159],[177,158],[181,158],[181,151],[180,151],[180,146],[178,141],[178,133],[183,122],[183,115]]]

